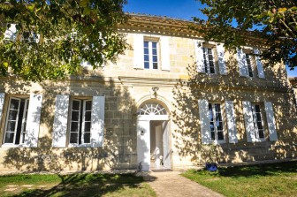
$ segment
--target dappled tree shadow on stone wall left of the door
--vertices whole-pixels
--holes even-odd
[[[136,169],[136,117],[129,89],[117,86],[103,76],[85,75],[71,80],[44,81],[39,84],[4,80],[8,95],[43,95],[38,148],[0,148],[5,170],[109,170]],[[105,95],[103,148],[52,148],[56,95]],[[5,118],[3,118],[5,121]],[[70,113],[68,115],[68,127]],[[69,141],[69,128],[67,141]],[[4,135],[4,133],[1,133]],[[2,149],[2,150],[1,150]]]

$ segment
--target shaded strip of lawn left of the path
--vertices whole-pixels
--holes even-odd
[[[0,196],[156,196],[133,174],[0,176]]]

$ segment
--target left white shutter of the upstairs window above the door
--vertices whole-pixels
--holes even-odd
[[[144,68],[144,57],[143,57],[143,34],[134,34],[134,63],[133,68],[143,69]]]

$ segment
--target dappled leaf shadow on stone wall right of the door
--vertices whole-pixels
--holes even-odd
[[[173,88],[172,119],[177,125],[173,138],[182,158],[194,164],[206,162],[242,163],[296,157],[297,118],[292,87],[286,70],[278,66],[265,68],[265,79],[240,77],[235,55],[226,61],[227,75],[199,73],[196,64],[187,67],[189,80],[180,80]],[[217,66],[218,71],[218,66]],[[198,100],[234,102],[238,143],[229,143],[225,109],[222,109],[225,143],[203,145]],[[247,142],[242,101],[262,106],[265,140]],[[270,141],[263,102],[272,102],[278,141]]]

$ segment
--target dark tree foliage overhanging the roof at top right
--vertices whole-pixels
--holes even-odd
[[[224,42],[236,49],[261,38],[261,55],[267,65],[285,63],[297,66],[297,1],[296,0],[201,0],[207,20],[194,18],[206,28],[199,28],[206,40]],[[234,27],[235,26],[235,27]],[[260,45],[260,40],[258,40]]]

